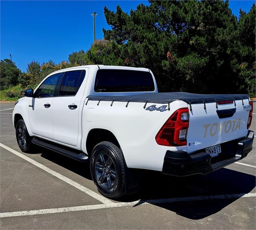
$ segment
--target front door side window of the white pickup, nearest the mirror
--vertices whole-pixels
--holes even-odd
[[[48,77],[36,90],[36,96],[37,97],[52,97],[54,94],[54,90],[56,87],[56,84],[60,78],[62,73],[54,74],[50,77]]]

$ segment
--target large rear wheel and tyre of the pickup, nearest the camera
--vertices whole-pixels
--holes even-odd
[[[98,191],[108,198],[125,194],[125,162],[122,150],[104,141],[97,144],[90,157],[92,180]]]

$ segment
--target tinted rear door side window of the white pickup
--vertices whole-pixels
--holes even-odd
[[[65,73],[60,86],[59,96],[74,96],[79,90],[85,76],[85,70],[74,70]]]

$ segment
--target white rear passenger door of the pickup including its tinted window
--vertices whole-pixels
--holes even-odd
[[[77,146],[79,119],[82,119],[79,110],[84,92],[79,89],[85,74],[85,70],[65,72],[59,94],[54,97],[52,102],[53,138],[58,142],[74,147]],[[84,90],[82,89],[82,91]]]

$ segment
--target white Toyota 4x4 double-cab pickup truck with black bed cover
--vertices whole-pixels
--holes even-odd
[[[67,68],[24,95],[13,111],[20,149],[37,145],[90,162],[110,198],[137,190],[132,169],[206,174],[252,150],[248,95],[158,93],[146,68]]]

